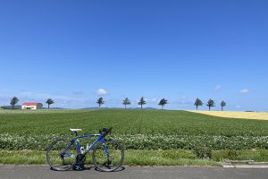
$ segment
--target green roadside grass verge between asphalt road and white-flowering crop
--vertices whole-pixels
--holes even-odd
[[[124,165],[128,166],[221,166],[224,159],[268,161],[267,149],[214,150],[212,158],[197,158],[192,150],[125,150]],[[87,164],[92,165],[91,153]],[[0,164],[4,165],[46,165],[46,151],[0,149]]]

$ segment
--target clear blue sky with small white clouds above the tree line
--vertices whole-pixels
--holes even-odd
[[[0,106],[268,111],[268,1],[0,1]]]

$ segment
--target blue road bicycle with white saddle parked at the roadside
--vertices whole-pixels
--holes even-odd
[[[99,130],[99,134],[78,135],[81,129],[70,129],[75,137],[60,138],[53,141],[46,150],[46,160],[52,169],[57,171],[81,170],[84,167],[86,156],[92,149],[93,163],[98,170],[112,172],[118,169],[124,159],[124,149],[118,141],[105,137],[111,134],[112,128]],[[81,147],[80,139],[96,138],[87,148]]]

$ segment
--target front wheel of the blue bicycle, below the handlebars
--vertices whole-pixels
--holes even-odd
[[[124,150],[118,141],[105,140],[93,150],[94,165],[101,171],[112,172],[118,169],[124,159]]]

